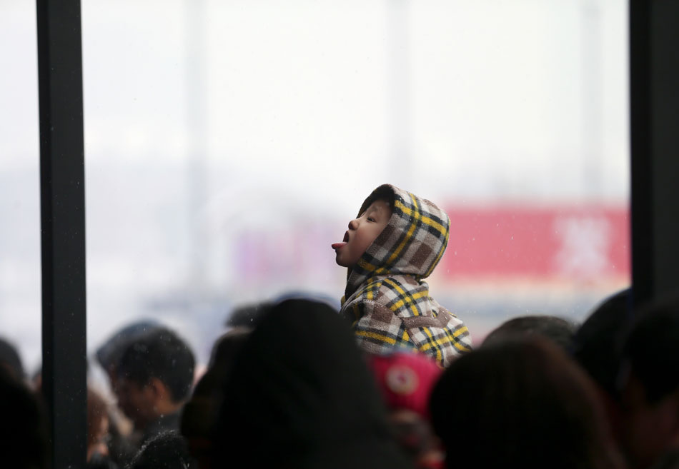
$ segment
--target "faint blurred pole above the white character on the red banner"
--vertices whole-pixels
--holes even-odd
[[[583,0],[583,181],[590,200],[605,193],[603,178],[601,12],[599,0]]]

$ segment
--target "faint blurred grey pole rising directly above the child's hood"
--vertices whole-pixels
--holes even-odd
[[[410,82],[410,0],[390,0],[387,3],[387,106],[390,106],[390,153],[394,183],[409,187],[412,181],[412,109]],[[397,182],[398,181],[398,182]]]

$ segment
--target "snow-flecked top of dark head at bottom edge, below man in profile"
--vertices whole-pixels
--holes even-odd
[[[139,450],[129,469],[197,469],[187,442],[176,431],[154,436]]]

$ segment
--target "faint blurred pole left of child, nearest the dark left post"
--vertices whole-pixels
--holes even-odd
[[[187,149],[189,288],[207,287],[207,233],[200,214],[207,202],[207,81],[205,79],[204,0],[187,0]]]

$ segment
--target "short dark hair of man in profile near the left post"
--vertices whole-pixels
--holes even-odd
[[[140,386],[157,378],[169,389],[174,402],[189,396],[196,362],[191,348],[167,328],[147,333],[122,353],[117,373]]]

